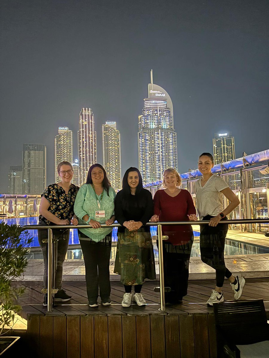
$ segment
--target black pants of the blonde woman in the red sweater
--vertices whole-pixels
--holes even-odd
[[[164,285],[171,288],[170,292],[165,292],[166,302],[177,303],[182,300],[183,296],[187,295],[192,244],[193,237],[181,245],[162,242]]]

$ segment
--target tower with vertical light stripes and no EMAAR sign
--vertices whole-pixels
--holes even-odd
[[[91,108],[82,108],[80,111],[77,146],[79,153],[79,185],[82,185],[86,182],[90,166],[97,162],[96,132]]]

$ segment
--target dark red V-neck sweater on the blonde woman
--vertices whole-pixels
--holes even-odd
[[[181,189],[175,197],[170,197],[164,190],[157,190],[154,195],[154,214],[159,221],[189,221],[188,215],[196,214],[193,199],[188,190]],[[162,226],[162,233],[169,236],[173,245],[189,241],[193,231],[190,225]]]

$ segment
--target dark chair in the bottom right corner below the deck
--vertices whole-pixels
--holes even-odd
[[[263,300],[213,304],[218,358],[269,357],[269,324]]]

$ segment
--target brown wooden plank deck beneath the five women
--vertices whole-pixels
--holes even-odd
[[[269,301],[269,278],[246,279],[242,299]],[[213,280],[189,281],[188,296],[181,305],[166,306],[160,312],[158,282],[146,282],[142,293],[148,303],[129,308],[121,305],[124,292],[120,282],[112,282],[111,306],[87,306],[85,282],[64,282],[67,304],[46,313],[41,294],[42,282],[23,282],[27,293],[20,300],[20,315],[28,320],[22,333],[29,357],[57,358],[215,358],[216,337],[213,309],[206,300]],[[225,300],[233,299],[228,281],[223,287]],[[269,316],[269,303],[265,302]],[[32,354],[32,355],[31,355]]]

